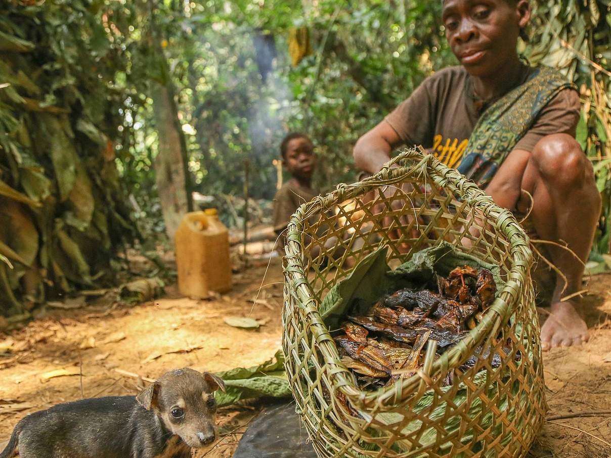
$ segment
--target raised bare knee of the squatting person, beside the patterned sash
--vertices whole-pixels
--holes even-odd
[[[532,161],[541,178],[556,186],[573,188],[594,183],[591,162],[568,134],[543,137],[532,151]]]

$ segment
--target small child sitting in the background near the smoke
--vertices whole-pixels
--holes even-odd
[[[282,251],[288,220],[302,203],[316,197],[318,191],[312,188],[316,156],[309,137],[298,132],[288,134],[280,144],[280,156],[282,156],[282,165],[291,174],[291,179],[276,192],[274,197],[274,231],[280,236],[277,247]]]

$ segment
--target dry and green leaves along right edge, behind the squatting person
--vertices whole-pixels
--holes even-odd
[[[602,214],[591,258],[604,263],[611,233],[611,2],[537,2],[525,51],[534,63],[564,71],[580,88],[582,113],[577,141],[594,165]]]

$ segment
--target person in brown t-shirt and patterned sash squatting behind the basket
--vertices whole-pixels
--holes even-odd
[[[530,206],[525,229],[531,237],[564,241],[585,261],[601,198],[574,139],[579,95],[558,72],[520,61],[516,46],[530,13],[529,0],[444,0],[446,37],[461,67],[426,79],[360,137],[354,159],[376,173],[394,148],[420,144],[498,205],[519,213]],[[546,247],[566,285],[563,275],[552,278],[543,348],[577,345],[588,340],[579,295],[562,299],[581,291],[584,265],[567,250]]]

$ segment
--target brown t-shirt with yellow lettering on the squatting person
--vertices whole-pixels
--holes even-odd
[[[534,69],[524,65],[518,79],[523,84]],[[508,91],[514,89],[508,88]],[[501,95],[502,96],[502,95]],[[499,97],[500,98],[500,97]],[[422,145],[441,162],[455,169],[467,148],[478,118],[494,100],[478,100],[472,79],[463,67],[449,67],[426,78],[386,121],[408,145]],[[544,136],[575,136],[579,122],[579,94],[563,89],[536,117],[515,149],[532,151]]]

